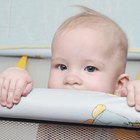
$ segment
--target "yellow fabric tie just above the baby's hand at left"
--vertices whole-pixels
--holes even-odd
[[[16,67],[26,69],[26,67],[27,67],[27,56],[26,55],[24,55],[20,58]]]

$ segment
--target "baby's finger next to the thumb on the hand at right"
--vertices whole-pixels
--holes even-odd
[[[127,86],[127,103],[129,106],[135,106],[135,90],[134,87],[131,85]]]

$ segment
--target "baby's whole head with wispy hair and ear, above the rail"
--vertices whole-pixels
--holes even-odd
[[[127,80],[126,35],[108,17],[83,9],[54,36],[48,87],[114,93]]]

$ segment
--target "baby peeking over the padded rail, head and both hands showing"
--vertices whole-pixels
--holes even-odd
[[[125,33],[110,18],[82,8],[83,12],[66,20],[54,35],[48,88],[127,96],[128,105],[140,111],[140,82],[130,81],[125,74]],[[24,69],[9,68],[0,76],[0,88],[0,104],[11,108],[31,91],[32,79]]]

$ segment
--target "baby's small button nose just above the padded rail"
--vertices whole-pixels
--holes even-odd
[[[81,85],[82,80],[77,75],[67,75],[64,79],[65,85]]]

